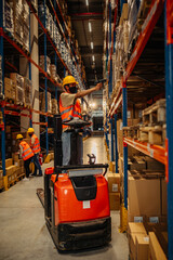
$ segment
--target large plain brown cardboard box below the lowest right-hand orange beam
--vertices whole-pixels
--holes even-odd
[[[160,216],[160,180],[129,177],[129,209],[134,216]]]

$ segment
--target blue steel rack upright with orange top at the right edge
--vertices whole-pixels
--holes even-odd
[[[172,10],[172,11],[171,11]],[[165,96],[167,96],[167,143],[168,143],[168,233],[169,259],[173,258],[173,2],[167,0],[164,5],[165,28]]]

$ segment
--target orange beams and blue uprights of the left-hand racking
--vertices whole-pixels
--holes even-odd
[[[32,5],[32,3],[28,0],[26,0],[26,2],[28,3],[29,5],[29,23],[30,23],[30,13],[32,12],[34,15],[36,16],[40,27],[42,28],[43,30],[43,34],[44,34],[44,55],[46,55],[46,42],[49,42],[49,44],[52,46],[53,48],[53,51],[55,53],[55,64],[57,64],[57,57],[58,57],[58,61],[61,61],[61,63],[63,64],[63,67],[64,67],[64,72],[68,72],[68,74],[71,74],[71,72],[69,70],[68,66],[65,64],[65,62],[63,61],[58,50],[56,49],[54,42],[52,41],[46,28],[45,28],[45,24],[43,25],[41,23],[41,21],[39,20],[39,16],[37,14],[37,10],[35,9],[35,6]],[[52,1],[49,0],[50,4],[52,5]],[[44,1],[44,8],[45,8],[45,3],[46,1]],[[56,22],[59,23],[58,18],[57,18],[57,15],[56,15],[56,8],[59,8],[59,4],[56,0],[54,0],[54,6],[52,5],[52,9],[53,9],[53,12],[55,14],[55,18],[56,18]],[[30,35],[29,35],[29,52],[27,52],[26,50],[24,50],[22,48],[22,46],[19,46],[12,37],[11,35],[9,35],[6,31],[5,31],[5,28],[3,28],[3,1],[0,1],[0,13],[1,13],[1,17],[0,17],[0,55],[2,56],[2,77],[4,78],[4,56],[3,56],[3,53],[4,53],[4,43],[8,42],[8,44],[10,44],[11,47],[13,47],[14,49],[14,53],[16,54],[21,54],[22,56],[24,56],[27,61],[28,61],[28,64],[29,64],[29,79],[31,79],[31,64],[35,65],[35,67],[38,68],[40,75],[42,75],[44,77],[44,90],[45,90],[45,113],[42,113],[40,110],[36,110],[36,109],[32,109],[32,108],[28,108],[28,107],[23,107],[23,106],[19,106],[19,105],[14,105],[14,104],[10,104],[5,101],[1,101],[0,102],[0,106],[1,106],[1,110],[2,110],[2,115],[3,115],[3,123],[0,125],[0,128],[1,128],[1,151],[2,151],[2,169],[3,169],[3,176],[5,176],[5,129],[4,129],[4,126],[5,126],[5,115],[12,115],[12,116],[21,116],[21,117],[29,117],[30,119],[30,126],[32,125],[40,125],[40,126],[44,126],[45,127],[45,131],[46,131],[46,154],[49,153],[49,133],[48,133],[48,118],[52,118],[53,115],[48,113],[48,101],[46,101],[46,92],[48,92],[48,81],[51,82],[52,86],[54,86],[54,91],[55,91],[55,98],[57,100],[57,88],[58,88],[58,91],[62,91],[62,84],[54,81],[50,76],[49,74],[46,73],[46,64],[44,64],[44,69],[42,69],[39,64],[37,64],[31,57],[30,57]],[[63,15],[63,14],[62,14]],[[30,26],[29,26],[30,27]],[[59,25],[61,27],[61,25]],[[30,29],[29,29],[29,34],[30,34]],[[62,32],[63,36],[65,37],[65,34]],[[66,38],[65,38],[66,39]],[[67,39],[66,39],[66,42],[67,42]],[[68,43],[68,42],[67,42]],[[70,46],[68,44],[68,48],[70,48]],[[70,50],[71,52],[71,50]],[[74,53],[75,53],[75,49],[74,49]],[[72,53],[71,53],[72,55]],[[76,57],[74,56],[74,61],[76,60]],[[79,65],[76,63],[76,61],[74,62],[77,69],[79,69]],[[11,65],[10,65],[11,66]],[[80,72],[79,72],[80,73]],[[3,80],[2,80],[3,81]],[[4,86],[3,86],[3,94],[4,94]],[[8,109],[10,108],[10,109]],[[25,114],[24,112],[23,113],[19,113],[18,110],[27,110],[29,112],[29,115],[28,114]],[[32,121],[31,120],[31,115],[32,113],[36,113],[36,114],[39,114],[39,115],[42,115],[44,116],[45,118],[45,122],[37,122],[37,121]]]

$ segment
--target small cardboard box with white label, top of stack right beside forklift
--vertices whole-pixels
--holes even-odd
[[[120,192],[120,174],[119,173],[108,173],[108,190],[109,193]]]

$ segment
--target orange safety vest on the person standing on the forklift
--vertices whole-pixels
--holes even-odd
[[[63,106],[62,100],[59,99],[59,113],[62,116],[62,122],[71,120],[74,117],[82,118],[80,100],[76,100],[75,104],[70,106]],[[67,127],[68,126],[63,125],[63,129]]]

